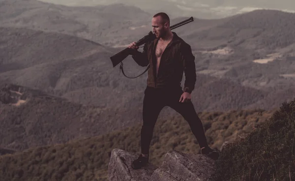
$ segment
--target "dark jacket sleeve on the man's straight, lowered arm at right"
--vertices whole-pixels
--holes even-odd
[[[183,91],[191,93],[195,89],[197,80],[195,57],[192,53],[191,46],[187,43],[181,43],[180,54],[185,75]]]

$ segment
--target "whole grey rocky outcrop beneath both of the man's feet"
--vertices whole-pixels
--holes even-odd
[[[220,151],[228,145],[225,142]],[[108,168],[109,181],[213,181],[214,160],[202,154],[186,154],[168,151],[160,167],[149,163],[134,170],[131,163],[138,157],[120,149],[114,149]]]

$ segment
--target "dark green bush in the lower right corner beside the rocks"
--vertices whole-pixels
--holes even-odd
[[[295,99],[216,160],[216,181],[295,180]],[[222,178],[222,179],[221,179]]]

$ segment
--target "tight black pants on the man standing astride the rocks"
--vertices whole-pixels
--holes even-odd
[[[199,146],[208,146],[202,121],[198,117],[191,101],[181,103],[180,96],[183,93],[181,87],[155,89],[147,87],[145,90],[143,105],[143,126],[141,129],[142,154],[149,153],[150,141],[153,135],[154,125],[161,110],[169,106],[177,111],[190,125]]]

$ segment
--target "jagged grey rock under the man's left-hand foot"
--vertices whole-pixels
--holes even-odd
[[[131,167],[133,160],[138,158],[138,154],[132,154],[120,149],[114,149],[108,167],[109,181],[150,181],[150,176],[157,169],[154,165],[148,165],[139,170]]]

